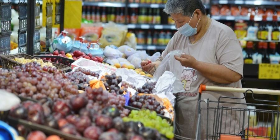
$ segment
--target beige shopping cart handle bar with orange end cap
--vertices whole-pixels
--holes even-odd
[[[202,91],[223,91],[223,92],[241,92],[241,93],[253,93],[254,94],[266,94],[266,95],[280,95],[279,90],[257,89],[257,88],[238,88],[238,87],[225,87],[225,86],[207,86],[200,85],[198,92],[202,94]]]

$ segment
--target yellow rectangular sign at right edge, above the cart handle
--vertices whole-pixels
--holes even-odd
[[[259,64],[259,79],[280,79],[280,65]]]

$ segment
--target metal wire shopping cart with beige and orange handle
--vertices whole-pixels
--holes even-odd
[[[245,93],[245,96],[247,93],[252,93],[252,98],[257,103],[240,103],[237,101],[244,99],[245,96],[243,98],[221,96],[217,101],[201,100],[203,91],[239,92]],[[207,113],[207,140],[278,139],[279,103],[277,101],[255,99],[254,94],[280,95],[280,91],[201,85],[199,93],[196,140],[201,139],[201,114],[205,115],[204,113]],[[202,111],[201,106],[203,104],[207,106],[206,112],[205,110]],[[246,108],[249,105],[263,109]],[[243,106],[243,108],[240,106]]]

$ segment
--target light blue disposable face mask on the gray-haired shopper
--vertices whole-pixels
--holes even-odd
[[[193,16],[194,16],[194,13],[193,13],[192,17],[190,18],[189,22],[192,20]],[[199,18],[198,22],[199,21],[200,21],[200,18]],[[195,28],[190,26],[189,23],[186,23],[185,25],[181,26],[180,28],[177,28],[177,30],[184,36],[195,35],[197,33],[198,22],[197,22]]]

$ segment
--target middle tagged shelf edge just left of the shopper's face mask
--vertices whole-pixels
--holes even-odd
[[[175,25],[128,24],[128,29],[176,30]]]

